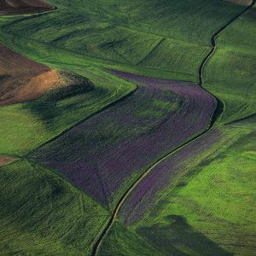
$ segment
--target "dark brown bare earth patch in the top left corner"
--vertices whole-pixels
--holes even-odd
[[[46,11],[54,7],[40,0],[0,0],[0,15],[22,15]]]

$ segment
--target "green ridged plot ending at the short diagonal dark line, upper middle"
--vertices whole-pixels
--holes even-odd
[[[50,30],[52,30],[51,27],[44,32],[47,33]],[[36,38],[41,37],[36,33]],[[103,60],[136,65],[159,44],[161,39],[160,36],[133,31],[125,27],[112,26],[103,22],[99,24],[89,22],[82,29],[73,26],[67,34],[62,32],[61,37],[55,38],[52,45]]]

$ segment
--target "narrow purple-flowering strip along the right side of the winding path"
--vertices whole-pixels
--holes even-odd
[[[189,166],[189,171],[193,172],[194,160],[198,157],[201,163],[207,160],[211,154],[211,151],[207,153],[207,150],[223,137],[222,131],[210,131],[155,166],[125,201],[121,210],[125,224],[135,224],[137,220],[143,218],[146,212],[154,214],[153,207],[156,201],[160,199],[166,187],[172,187],[172,179],[177,173],[186,172],[187,166]]]

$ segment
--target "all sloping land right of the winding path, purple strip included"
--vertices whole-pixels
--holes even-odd
[[[224,30],[217,41],[219,49],[253,53],[254,12],[249,10]],[[239,32],[248,36],[240,37]],[[136,253],[142,246],[154,247],[152,255],[254,254],[255,79],[251,68],[255,61],[253,54],[241,62],[236,52],[227,58],[219,49],[209,63],[214,61],[212,69],[207,66],[207,79],[209,75],[212,79],[207,89],[224,100],[218,121],[230,121],[231,114],[233,121],[155,166],[126,200],[120,216],[124,224],[113,225],[99,254],[134,253],[127,244],[136,241]],[[225,86],[214,84],[217,79],[225,79]]]

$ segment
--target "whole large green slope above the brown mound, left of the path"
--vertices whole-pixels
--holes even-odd
[[[218,0],[49,2],[57,11],[2,18],[3,41],[50,67],[78,61],[76,53],[84,66],[190,81],[197,81],[212,32],[242,8]]]

